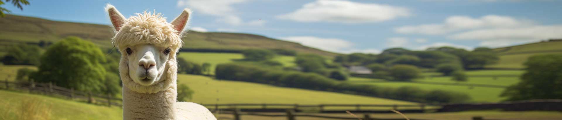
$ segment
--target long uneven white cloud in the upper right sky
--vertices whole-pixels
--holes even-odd
[[[439,35],[456,31],[486,29],[486,28],[514,28],[531,26],[528,20],[518,20],[509,16],[487,15],[480,18],[469,16],[451,16],[442,24],[425,24],[416,26],[401,26],[395,28],[397,33]]]

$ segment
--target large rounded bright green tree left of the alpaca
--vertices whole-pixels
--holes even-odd
[[[51,45],[40,58],[38,82],[80,91],[102,91],[106,62],[101,49],[90,41],[69,37]]]

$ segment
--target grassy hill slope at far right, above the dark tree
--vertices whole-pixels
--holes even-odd
[[[524,68],[527,58],[540,54],[562,54],[562,40],[542,41],[494,49],[500,56],[497,64],[486,68]]]

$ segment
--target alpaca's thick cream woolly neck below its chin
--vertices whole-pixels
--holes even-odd
[[[137,93],[123,86],[123,119],[175,119],[177,92]]]

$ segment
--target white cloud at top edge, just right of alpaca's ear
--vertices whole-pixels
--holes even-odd
[[[233,4],[246,3],[246,0],[179,0],[178,7],[192,8],[194,12],[218,17],[216,22],[229,25],[256,25],[246,24],[238,16],[239,12],[235,10]],[[259,25],[263,25],[262,22]]]

